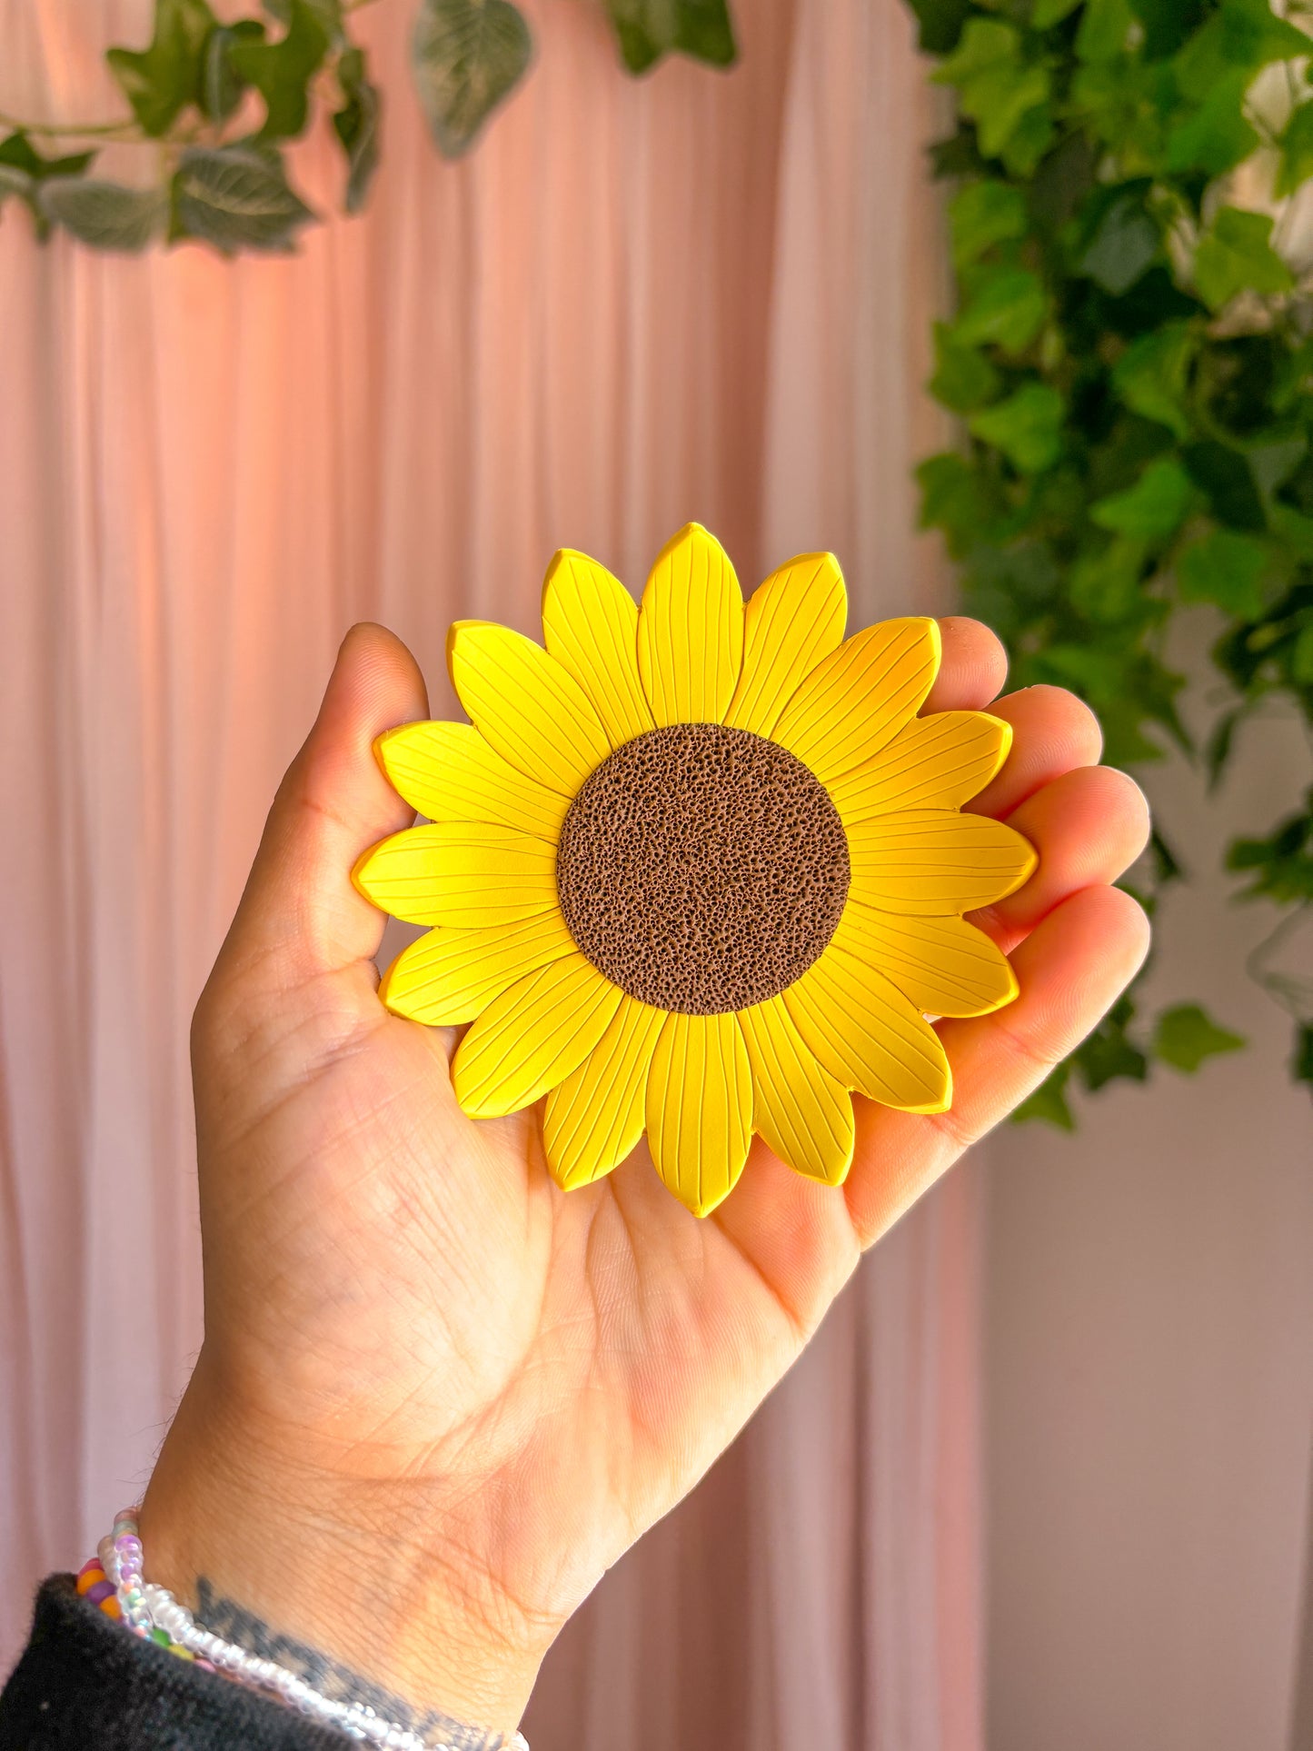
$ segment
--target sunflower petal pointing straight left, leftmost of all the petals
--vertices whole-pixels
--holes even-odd
[[[557,849],[487,821],[438,821],[371,846],[352,881],[411,925],[513,925],[557,907]]]

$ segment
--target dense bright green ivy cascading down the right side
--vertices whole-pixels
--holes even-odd
[[[1274,700],[1313,725],[1313,88],[1288,0],[910,0],[958,128],[933,147],[958,315],[935,326],[935,397],[961,443],[919,469],[968,606],[1017,685],[1073,686],[1119,765],[1175,746],[1215,784]],[[1176,711],[1176,611],[1220,622],[1215,718]],[[1211,695],[1210,695],[1211,697]],[[1262,734],[1255,725],[1246,734]],[[1283,907],[1252,961],[1313,1084],[1313,791],[1236,840],[1241,898]],[[1140,897],[1182,877],[1168,837]],[[1022,1110],[1243,1042],[1197,1003],[1136,993]]]

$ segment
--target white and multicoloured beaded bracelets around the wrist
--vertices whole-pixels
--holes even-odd
[[[385,1751],[453,1751],[445,1740],[424,1740],[408,1726],[383,1719],[364,1702],[338,1702],[324,1697],[303,1677],[277,1660],[263,1660],[236,1642],[203,1628],[166,1586],[142,1576],[142,1536],[137,1508],[114,1516],[114,1530],[100,1541],[91,1562],[77,1574],[77,1592],[107,1616],[123,1621],[135,1635],[158,1642],[170,1653],[210,1672],[222,1672],[252,1690],[270,1691],[299,1714],[336,1726],[348,1739],[368,1739]],[[504,1751],[529,1751],[523,1733],[513,1733]]]

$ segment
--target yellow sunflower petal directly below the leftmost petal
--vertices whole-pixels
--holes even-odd
[[[431,930],[397,954],[378,996],[394,1016],[445,1028],[473,1021],[516,979],[567,954],[574,939],[557,907],[522,925]]]

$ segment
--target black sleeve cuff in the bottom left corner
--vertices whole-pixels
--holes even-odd
[[[352,1744],[217,1672],[128,1634],[72,1574],[37,1593],[0,1693],[0,1751],[341,1751]]]

